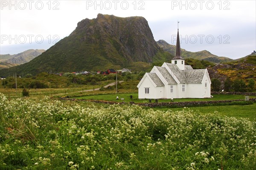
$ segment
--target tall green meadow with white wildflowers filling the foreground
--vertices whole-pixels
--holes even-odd
[[[0,169],[254,170],[256,122],[0,94]]]

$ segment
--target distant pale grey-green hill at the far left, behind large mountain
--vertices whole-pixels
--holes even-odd
[[[13,67],[15,65],[20,65],[20,64],[29,62],[35,57],[38,57],[39,55],[41,55],[44,51],[45,50],[42,50],[42,49],[41,50],[30,49],[14,55],[0,54],[0,69]]]

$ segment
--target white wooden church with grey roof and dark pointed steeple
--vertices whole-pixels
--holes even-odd
[[[172,63],[154,66],[137,85],[139,99],[209,98],[211,80],[207,69],[193,69],[181,57],[179,29]]]

